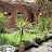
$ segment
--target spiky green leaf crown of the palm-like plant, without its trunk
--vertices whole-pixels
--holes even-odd
[[[27,17],[28,18],[28,17]],[[16,23],[17,23],[17,26],[18,26],[18,28],[21,29],[24,29],[24,28],[26,28],[26,26],[27,26],[27,24],[28,24],[28,22],[27,22],[27,18],[24,21],[24,18],[21,16],[21,15],[18,15],[17,17],[16,17]]]

